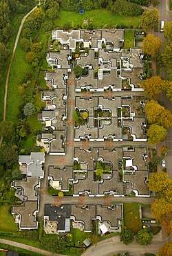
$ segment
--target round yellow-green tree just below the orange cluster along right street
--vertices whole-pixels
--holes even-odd
[[[160,125],[150,125],[147,136],[149,143],[157,144],[160,143],[160,141],[164,141],[164,138],[166,137],[167,131],[163,126]]]

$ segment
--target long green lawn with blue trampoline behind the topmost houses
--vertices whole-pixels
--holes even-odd
[[[116,16],[111,15],[109,10],[90,10],[85,11],[83,15],[80,15],[78,12],[67,12],[65,10],[60,10],[59,19],[54,21],[54,26],[63,27],[64,24],[70,24],[73,28],[80,27],[83,24],[85,19],[91,20],[94,24],[94,28],[108,28],[109,26],[131,26],[133,28],[138,28],[140,23],[140,16],[135,17],[125,17],[125,16]]]

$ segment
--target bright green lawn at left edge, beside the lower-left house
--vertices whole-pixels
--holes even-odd
[[[6,232],[17,232],[19,227],[14,223],[14,218],[10,214],[11,205],[3,205],[0,207],[0,230]]]

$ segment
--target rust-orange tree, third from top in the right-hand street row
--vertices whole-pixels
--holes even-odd
[[[143,80],[141,85],[144,88],[144,94],[149,98],[154,98],[156,95],[166,90],[168,82],[162,80],[160,76],[153,76],[149,79]]]

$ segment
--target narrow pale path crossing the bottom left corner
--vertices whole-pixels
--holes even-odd
[[[10,241],[6,239],[0,239],[1,244],[8,244],[9,246],[15,246],[22,248],[24,250],[30,250],[33,253],[39,253],[40,255],[47,255],[47,256],[65,256],[58,253],[50,253],[47,250],[41,250],[39,248],[36,248],[34,246],[28,246],[26,244],[17,243],[16,241]]]

